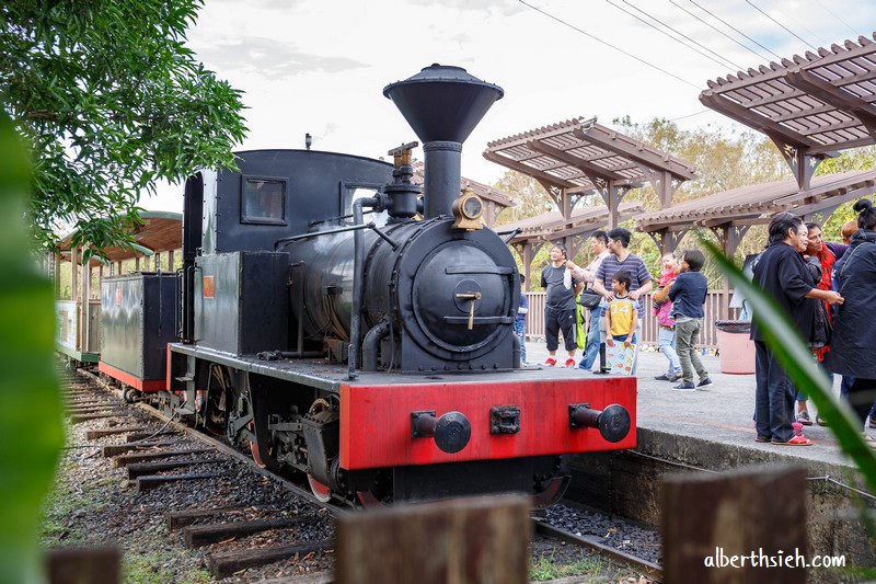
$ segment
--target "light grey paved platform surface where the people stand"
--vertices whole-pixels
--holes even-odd
[[[563,360],[565,353],[562,351]],[[541,364],[548,356],[544,342],[527,343],[527,360]],[[577,354],[580,358],[580,351]],[[784,456],[852,467],[853,463],[838,447],[830,430],[812,424],[804,428],[812,446],[773,446],[754,442],[754,376],[721,373],[721,359],[715,356],[701,357],[704,367],[715,382],[708,391],[672,391],[676,383],[657,381],[655,376],[666,371],[667,360],[660,353],[642,351],[638,355],[636,377],[638,379],[638,427],[667,432],[736,445],[752,450],[781,453]],[[575,369],[574,375],[595,375]],[[598,376],[595,376],[598,377]],[[694,379],[696,382],[696,379]],[[834,392],[839,396],[839,379]],[[815,420],[816,409],[809,402],[809,413]],[[876,435],[876,430],[869,431]]]

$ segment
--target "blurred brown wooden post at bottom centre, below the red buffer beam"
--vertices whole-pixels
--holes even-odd
[[[531,520],[522,495],[458,499],[338,518],[335,577],[525,584]]]

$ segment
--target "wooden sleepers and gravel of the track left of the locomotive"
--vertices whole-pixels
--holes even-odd
[[[127,552],[138,546],[137,530],[157,531],[217,581],[258,580],[268,564],[273,575],[331,571],[333,515],[343,509],[315,503],[249,457],[152,408],[124,403],[119,391],[90,373],[68,378],[68,419],[84,438],[73,448],[95,477],[106,477],[99,482],[119,479],[124,486],[111,499],[128,502],[124,518],[105,518],[111,537],[96,534],[92,541]]]

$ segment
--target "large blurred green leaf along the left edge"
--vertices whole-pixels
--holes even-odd
[[[28,191],[26,150],[0,112],[0,583],[41,580],[41,506],[64,444],[53,289],[22,224]]]

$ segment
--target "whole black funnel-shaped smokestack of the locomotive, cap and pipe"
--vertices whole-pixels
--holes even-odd
[[[461,67],[435,64],[383,88],[423,141],[426,217],[450,215],[459,195],[462,142],[505,91]]]

